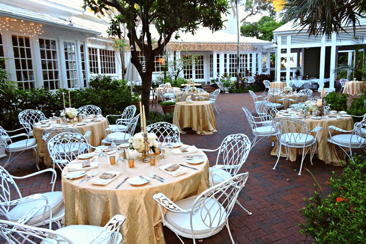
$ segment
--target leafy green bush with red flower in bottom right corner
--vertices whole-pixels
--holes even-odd
[[[318,191],[300,209],[306,218],[300,233],[310,234],[316,243],[366,243],[366,158],[355,156],[343,173],[329,179],[332,193]]]

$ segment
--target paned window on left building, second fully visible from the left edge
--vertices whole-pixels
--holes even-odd
[[[39,38],[38,44],[40,45],[43,86],[49,90],[60,89],[56,40]]]

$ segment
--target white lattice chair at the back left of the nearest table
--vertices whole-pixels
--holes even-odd
[[[79,133],[63,132],[53,136],[47,143],[49,155],[55,165],[62,171],[63,168],[78,155],[89,153],[89,143]]]

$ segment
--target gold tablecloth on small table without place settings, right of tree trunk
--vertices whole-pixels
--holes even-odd
[[[216,131],[216,119],[212,106],[207,101],[177,102],[174,108],[173,124],[178,126],[180,133],[186,134],[182,129],[190,127],[197,134],[212,134]]]

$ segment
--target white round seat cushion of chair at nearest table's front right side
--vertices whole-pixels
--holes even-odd
[[[193,202],[196,200],[196,197],[191,197],[187,199],[180,200],[176,202],[179,207],[182,209],[190,209],[192,207]],[[211,218],[206,217],[205,222],[203,222],[202,217],[206,215],[206,209],[203,207],[199,208],[198,211],[192,216],[192,224],[193,230],[197,234],[209,234],[212,229],[206,225],[210,225],[209,221],[212,221],[212,226],[224,225],[226,218],[225,209],[215,200],[208,199],[205,202],[206,209],[210,209]],[[220,210],[221,208],[221,216]],[[201,212],[202,211],[202,212]],[[217,214],[216,214],[217,213]],[[183,233],[192,233],[191,231],[191,222],[190,222],[190,214],[191,213],[173,213],[171,211],[167,211],[165,217],[167,221],[180,232]],[[219,222],[220,221],[220,222]],[[212,234],[208,235],[211,236]]]

